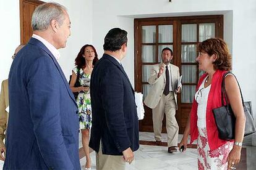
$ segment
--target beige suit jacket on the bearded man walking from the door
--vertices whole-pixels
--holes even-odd
[[[150,91],[148,92],[148,95],[144,101],[145,105],[149,108],[155,108],[156,105],[158,105],[164,91],[164,87],[166,84],[166,76],[165,76],[165,69],[164,68],[164,73],[161,75],[159,78],[157,78],[157,75],[159,73],[159,67],[163,63],[153,65],[153,68],[150,73],[150,78],[148,78],[148,83],[151,85]],[[174,89],[174,97],[175,97],[175,102],[176,102],[176,110],[177,110],[177,94],[175,92],[176,89],[176,83],[177,79],[179,78],[179,67],[170,64],[171,68],[171,78],[172,78],[172,86]],[[182,87],[181,87],[182,88]]]

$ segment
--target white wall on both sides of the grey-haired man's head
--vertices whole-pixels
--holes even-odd
[[[51,2],[46,0],[45,2]],[[57,0],[67,7],[71,21],[71,36],[67,40],[67,47],[60,49],[61,65],[66,78],[69,78],[74,60],[84,44],[92,43],[92,0]],[[11,67],[11,56],[20,44],[20,13],[19,1],[0,1],[1,32],[1,62],[0,81],[7,79]]]

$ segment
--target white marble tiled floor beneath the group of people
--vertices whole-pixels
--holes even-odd
[[[181,140],[179,136],[179,141]],[[140,140],[154,141],[153,134],[148,132],[140,132]],[[163,134],[163,142],[167,142],[166,134]],[[80,147],[82,147],[80,142]],[[246,166],[248,170],[256,169],[256,147],[245,147],[246,150]],[[96,169],[95,152],[91,154],[92,169]],[[244,154],[245,155],[245,154]],[[85,164],[85,158],[80,160],[81,165]],[[3,162],[0,163],[2,169]],[[187,148],[185,153],[167,153],[167,147],[140,145],[139,150],[135,152],[135,160],[132,164],[126,164],[127,170],[169,170],[169,169],[197,169],[197,150],[195,148]],[[239,168],[245,169],[245,168]]]

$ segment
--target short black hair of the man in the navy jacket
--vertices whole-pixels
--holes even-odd
[[[103,49],[105,51],[117,51],[121,49],[124,43],[127,46],[127,32],[120,28],[113,28],[105,36]]]

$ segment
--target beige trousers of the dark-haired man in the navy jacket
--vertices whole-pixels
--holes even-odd
[[[100,142],[99,153],[96,152],[96,169],[97,170],[125,170],[126,162],[120,155],[103,155]]]

